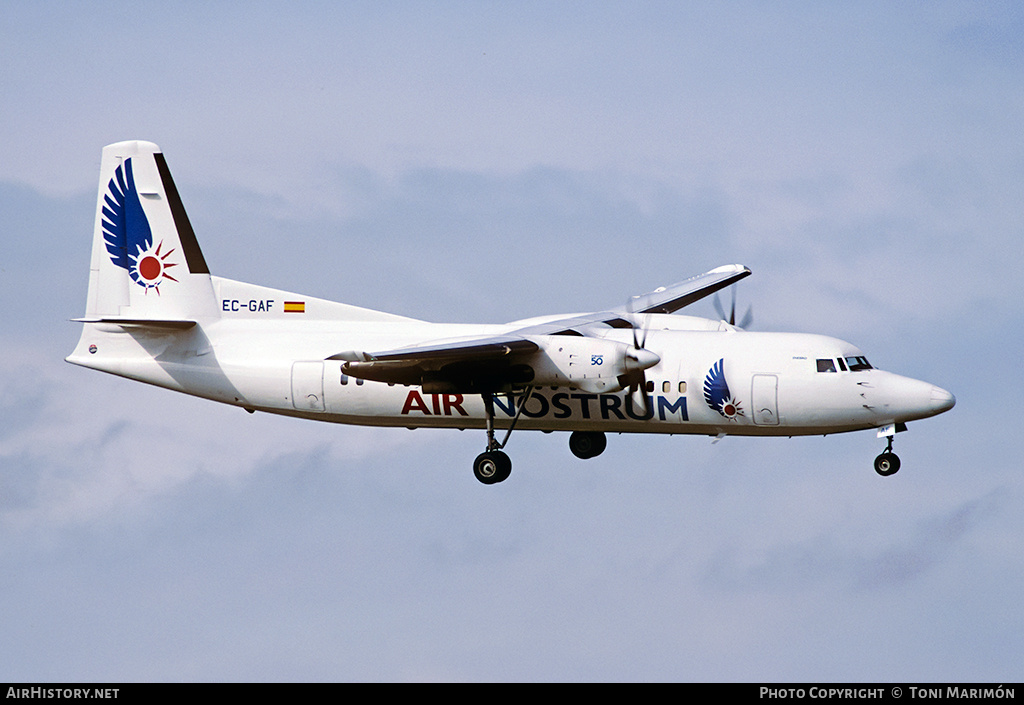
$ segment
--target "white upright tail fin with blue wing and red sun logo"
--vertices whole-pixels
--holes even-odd
[[[210,269],[160,148],[103,148],[84,321],[174,324],[215,317]]]

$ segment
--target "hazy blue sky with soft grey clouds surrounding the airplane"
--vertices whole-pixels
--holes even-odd
[[[4,3],[0,678],[1020,680],[1014,3]],[[250,416],[65,364],[101,148],[219,275],[434,321],[742,262],[759,330],[950,389],[872,433]],[[710,305],[693,313],[713,315]]]

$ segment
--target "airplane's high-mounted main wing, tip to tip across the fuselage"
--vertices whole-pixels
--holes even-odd
[[[433,341],[425,345],[364,352],[349,350],[328,360],[345,361],[345,374],[391,384],[422,385],[428,392],[485,392],[522,387],[535,380],[529,362],[546,336],[591,338],[598,330],[634,328],[636,314],[671,314],[749,277],[739,264],[720,266],[670,287],[637,296],[626,306],[524,326],[502,336]],[[564,340],[564,338],[563,338]],[[618,352],[623,343],[591,338],[595,351]],[[563,347],[560,344],[559,347]],[[616,346],[615,350],[611,346]],[[578,346],[573,346],[578,347]],[[598,347],[601,349],[598,350]],[[581,350],[577,350],[580,352]],[[583,359],[587,359],[586,355]],[[651,356],[656,360],[656,356]],[[621,365],[627,365],[625,358]],[[635,366],[636,363],[634,363]],[[654,364],[648,361],[647,366]],[[625,370],[624,370],[625,371]]]

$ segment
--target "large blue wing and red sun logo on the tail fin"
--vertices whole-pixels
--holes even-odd
[[[102,227],[111,261],[127,269],[131,280],[146,293],[153,289],[160,294],[160,285],[165,281],[178,281],[167,273],[177,266],[176,262],[168,261],[174,250],[162,252],[163,241],[156,248],[153,246],[153,230],[138,198],[131,159],[126,159],[114,171],[114,177],[106,184]]]

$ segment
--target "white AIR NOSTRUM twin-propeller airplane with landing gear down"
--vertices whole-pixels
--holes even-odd
[[[513,429],[893,438],[955,399],[824,335],[675,312],[751,275],[719,266],[625,305],[500,325],[430,323],[210,273],[160,148],[105,147],[81,339],[67,361],[223,404],[318,421],[484,429],[477,480],[506,480]],[[735,291],[733,289],[733,291]],[[498,440],[497,432],[504,431]]]

